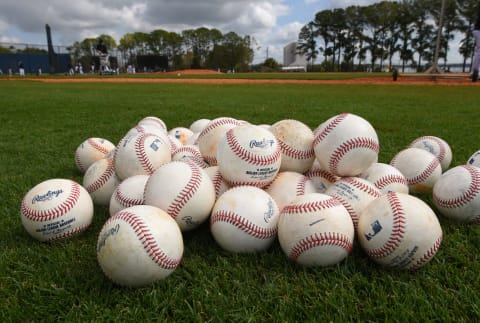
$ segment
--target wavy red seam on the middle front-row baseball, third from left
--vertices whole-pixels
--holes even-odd
[[[257,239],[270,239],[277,235],[278,228],[262,228],[247,219],[238,216],[238,214],[231,211],[218,210],[212,214],[211,224],[215,222],[229,223],[246,234]]]

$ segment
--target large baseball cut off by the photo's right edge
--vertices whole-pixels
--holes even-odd
[[[480,224],[480,168],[461,165],[447,170],[433,186],[433,202],[447,218]]]

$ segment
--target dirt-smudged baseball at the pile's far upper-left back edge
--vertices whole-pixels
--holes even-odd
[[[99,159],[105,158],[115,145],[103,138],[88,138],[75,150],[75,165],[78,170],[85,173],[87,168]]]

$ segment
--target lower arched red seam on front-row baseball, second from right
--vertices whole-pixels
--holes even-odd
[[[347,254],[350,254],[353,248],[353,242],[349,237],[339,232],[315,233],[298,241],[290,251],[288,258],[296,261],[305,251],[323,246],[340,247],[344,249]]]

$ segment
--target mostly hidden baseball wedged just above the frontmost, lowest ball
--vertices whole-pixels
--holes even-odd
[[[109,203],[109,213],[115,213],[134,205],[144,204],[143,192],[148,175],[134,175],[123,180],[113,191]]]

